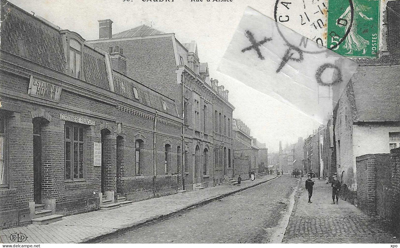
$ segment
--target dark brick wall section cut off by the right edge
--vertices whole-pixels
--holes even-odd
[[[396,227],[396,232],[400,235],[400,148],[392,149],[392,220]]]

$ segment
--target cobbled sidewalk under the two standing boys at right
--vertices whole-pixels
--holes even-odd
[[[359,208],[339,199],[332,203],[332,188],[324,180],[315,179],[312,203],[304,188],[296,196],[295,205],[282,243],[399,243],[388,223],[367,216]]]

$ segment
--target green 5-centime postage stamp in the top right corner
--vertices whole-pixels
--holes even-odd
[[[379,0],[329,1],[327,47],[343,56],[378,57],[379,17]]]

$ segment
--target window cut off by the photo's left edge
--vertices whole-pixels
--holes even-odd
[[[0,188],[8,188],[8,119],[0,114]]]

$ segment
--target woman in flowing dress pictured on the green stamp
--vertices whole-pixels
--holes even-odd
[[[361,51],[362,50],[362,54],[365,54],[366,50],[365,48],[367,47],[367,45],[370,44],[370,42],[368,40],[365,40],[364,38],[362,38],[360,35],[357,34],[357,21],[360,17],[364,18],[365,20],[372,20],[371,18],[368,18],[366,15],[364,15],[362,13],[363,10],[368,9],[368,7],[364,6],[364,5],[360,5],[358,4],[358,2],[356,0],[353,0],[354,3],[354,16],[353,16],[353,23],[352,26],[350,28],[350,32],[348,33],[348,35],[345,38],[344,41],[344,45],[343,48],[348,50],[348,52],[346,52],[346,54],[353,54],[353,51]],[[348,25],[350,25],[351,22],[351,8],[350,6],[348,6],[346,8],[346,11],[344,11],[344,13],[339,17],[338,20],[346,20],[346,25],[342,26],[344,28],[347,28]],[[336,22],[336,25],[339,25],[341,22]]]

